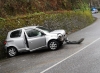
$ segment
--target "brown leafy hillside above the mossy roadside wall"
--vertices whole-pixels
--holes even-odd
[[[82,0],[0,0],[0,17],[34,12],[71,10]]]

